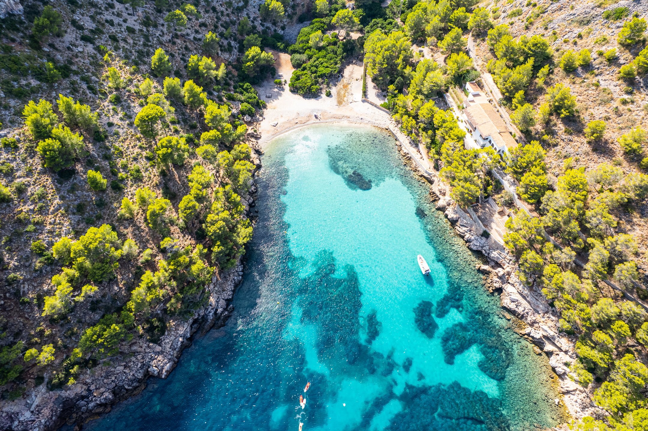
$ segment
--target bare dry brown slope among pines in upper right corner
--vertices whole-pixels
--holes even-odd
[[[635,127],[648,127],[648,76],[643,74],[632,80],[619,78],[619,69],[632,63],[645,47],[642,44],[624,47],[619,45],[617,34],[623,23],[633,14],[648,17],[648,1],[501,1],[491,6],[498,8],[499,18],[495,24],[507,24],[511,34],[540,34],[551,41],[555,64],[553,73],[544,85],[536,85],[527,93],[527,101],[536,111],[546,101],[548,87],[563,83],[576,96],[579,116],[555,118],[547,126],[538,123],[529,132],[532,138],[542,138],[547,151],[548,174],[553,184],[561,175],[564,159],[572,157],[575,165],[594,170],[607,162],[618,166],[624,172],[646,172],[640,162],[648,156],[645,146],[643,155],[627,155],[618,138]],[[621,9],[621,17],[614,19],[603,16]],[[513,16],[513,17],[512,17]],[[476,39],[478,57],[484,65],[493,58],[485,39]],[[559,60],[566,50],[588,49],[592,62],[565,72],[559,67]],[[606,60],[604,53],[616,49],[617,57]],[[510,107],[510,106],[509,106]],[[510,109],[513,113],[513,109]],[[583,130],[588,122],[602,120],[606,124],[605,135],[598,142],[588,142]],[[618,228],[631,234],[639,245],[637,263],[648,276],[648,207],[643,205],[638,212],[619,211]],[[648,279],[646,279],[648,281]]]

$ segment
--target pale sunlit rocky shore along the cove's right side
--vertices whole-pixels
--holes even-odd
[[[481,236],[478,228],[469,214],[461,210],[448,196],[449,186],[437,175],[421,168],[420,162],[413,159],[410,149],[403,148],[403,138],[398,132],[389,129],[397,138],[399,152],[408,166],[421,175],[431,186],[431,197],[437,201],[437,210],[442,210],[445,217],[454,227],[456,234],[462,238],[469,249],[481,252],[487,260],[487,265],[479,265],[478,270],[484,274],[485,287],[492,294],[500,295],[500,305],[522,322],[524,328],[516,332],[531,342],[536,353],[545,354],[559,381],[559,392],[562,394],[560,403],[564,403],[573,419],[584,416],[603,417],[605,412],[592,401],[592,390],[583,388],[570,375],[569,365],[576,359],[574,346],[575,337],[559,334],[558,315],[544,299],[535,286],[527,287],[520,282],[516,272],[518,265],[515,257],[492,238]],[[415,150],[414,150],[415,151]],[[564,426],[564,424],[563,424]],[[562,429],[562,428],[561,428]],[[567,428],[564,428],[567,429]]]

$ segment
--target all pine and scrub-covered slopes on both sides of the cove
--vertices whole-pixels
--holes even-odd
[[[236,265],[252,232],[246,121],[265,107],[253,84],[275,78],[272,48],[290,54],[288,87],[303,96],[329,95],[344,61],[364,54],[383,107],[460,206],[492,196],[513,208],[492,172],[508,175],[524,208],[504,245],[572,337],[570,375],[610,414],[575,429],[640,429],[645,11],[601,1],[588,5],[596,16],[567,19],[581,6],[561,1],[264,0],[254,14],[247,1],[27,2],[0,34],[3,394],[44,373],[51,388],[73,384],[124,342],[157,342]],[[292,45],[279,32],[288,19],[310,20]],[[490,87],[481,72],[515,125],[503,154],[465,148],[464,85]]]

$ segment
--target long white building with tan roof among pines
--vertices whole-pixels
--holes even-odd
[[[472,138],[481,148],[489,146],[500,155],[508,153],[509,148],[518,144],[511,135],[511,130],[475,82],[467,83],[466,90],[469,94],[463,112],[468,119]]]

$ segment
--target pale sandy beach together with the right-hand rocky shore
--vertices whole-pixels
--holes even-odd
[[[283,76],[290,76],[293,70],[290,57],[287,54],[277,55],[278,72]],[[538,354],[544,353],[548,357],[551,369],[559,379],[559,392],[562,395],[560,402],[564,404],[568,414],[573,419],[581,419],[586,415],[602,415],[603,412],[592,404],[592,391],[586,390],[570,378],[570,370],[565,362],[576,359],[575,339],[559,335],[555,309],[549,307],[537,289],[520,282],[516,276],[518,266],[515,258],[502,245],[492,237],[481,237],[478,222],[452,201],[448,195],[450,186],[445,184],[432,168],[424,168],[425,165],[430,165],[428,160],[421,156],[417,142],[411,142],[400,132],[391,115],[364,102],[362,87],[356,88],[356,93],[343,94],[344,98],[338,97],[345,88],[351,87],[353,90],[351,84],[354,82],[362,83],[362,67],[351,63],[343,71],[336,86],[331,89],[330,98],[319,96],[305,99],[290,93],[288,89],[275,94],[268,103],[268,109],[264,111],[264,118],[258,123],[261,136],[257,140],[257,148],[263,151],[268,142],[275,137],[300,127],[320,123],[370,125],[388,130],[395,137],[395,144],[399,146],[402,157],[410,160],[408,165],[413,173],[424,177],[430,183],[430,189],[437,199],[445,203],[445,206],[439,205],[437,209],[445,210],[445,217],[456,234],[465,241],[469,249],[481,252],[488,261],[488,265],[480,265],[478,268],[487,277],[485,288],[491,293],[501,291],[502,309],[509,311],[526,325],[524,329],[516,331],[518,335],[536,346]],[[260,93],[267,91],[267,88],[261,87]],[[341,100],[342,103],[333,104],[334,100]],[[295,113],[299,114],[295,116]]]

